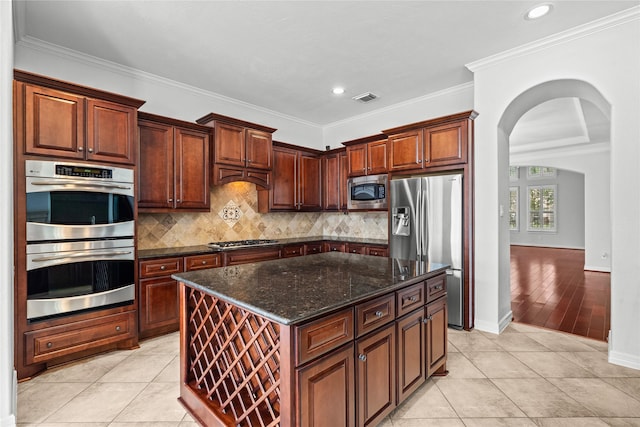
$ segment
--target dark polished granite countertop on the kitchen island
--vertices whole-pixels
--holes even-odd
[[[291,325],[417,283],[447,267],[331,252],[172,277],[270,320]]]

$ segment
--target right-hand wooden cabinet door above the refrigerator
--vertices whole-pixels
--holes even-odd
[[[467,129],[466,120],[425,128],[425,166],[466,163]]]

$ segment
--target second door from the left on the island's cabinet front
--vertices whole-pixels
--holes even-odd
[[[358,426],[378,424],[396,407],[395,323],[356,341]]]

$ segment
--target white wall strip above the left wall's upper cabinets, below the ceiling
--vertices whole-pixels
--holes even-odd
[[[140,111],[195,121],[214,112],[278,129],[273,138],[324,149],[322,128],[212,92],[42,42],[19,42],[15,68],[146,101]]]

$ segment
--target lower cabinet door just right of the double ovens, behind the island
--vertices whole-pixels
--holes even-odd
[[[180,327],[178,282],[171,277],[140,281],[140,337],[177,331]]]

